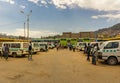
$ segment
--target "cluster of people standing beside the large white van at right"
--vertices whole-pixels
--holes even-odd
[[[92,64],[96,65],[97,55],[98,55],[99,46],[98,43],[90,45],[85,44],[84,53],[87,54],[87,60],[90,61],[90,55],[92,55]]]

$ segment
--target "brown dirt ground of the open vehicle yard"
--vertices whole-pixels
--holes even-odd
[[[83,52],[67,49],[27,57],[0,59],[0,83],[120,83],[120,64],[92,65]]]

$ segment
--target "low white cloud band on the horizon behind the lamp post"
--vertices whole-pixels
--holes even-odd
[[[26,30],[25,30],[26,31]],[[24,29],[16,29],[12,32],[2,32],[7,35],[14,35],[14,36],[24,36]],[[29,36],[33,38],[40,38],[40,37],[46,37],[46,36],[53,36],[59,34],[58,32],[52,32],[52,31],[46,31],[46,30],[40,30],[40,31],[30,31]],[[25,34],[27,36],[27,34]]]

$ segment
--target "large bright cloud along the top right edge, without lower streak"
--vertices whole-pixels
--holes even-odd
[[[80,7],[99,11],[120,10],[120,0],[52,0],[52,4],[61,9]]]

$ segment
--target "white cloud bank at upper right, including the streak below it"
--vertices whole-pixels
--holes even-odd
[[[51,0],[56,8],[82,8],[104,11],[103,15],[94,15],[91,18],[107,18],[108,21],[120,19],[120,0]],[[117,13],[116,13],[117,12]],[[119,13],[118,13],[119,12]]]

